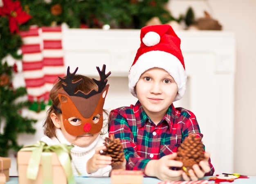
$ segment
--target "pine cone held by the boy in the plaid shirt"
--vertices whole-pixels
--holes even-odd
[[[183,162],[182,168],[187,175],[189,175],[187,171],[192,168],[193,164],[198,164],[204,159],[202,138],[196,136],[196,134],[190,134],[186,137],[177,151],[176,160]]]

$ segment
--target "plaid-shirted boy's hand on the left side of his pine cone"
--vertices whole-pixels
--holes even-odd
[[[182,167],[182,162],[174,160],[177,153],[166,155],[159,160],[150,160],[145,168],[145,174],[157,177],[162,181],[179,181],[182,179],[182,170],[173,171],[170,167]]]

